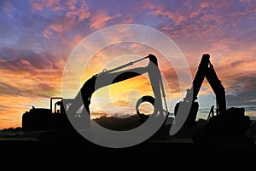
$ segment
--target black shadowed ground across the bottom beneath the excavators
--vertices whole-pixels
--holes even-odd
[[[0,137],[1,163],[23,162],[22,166],[38,163],[39,168],[56,163],[65,168],[68,163],[77,163],[87,168],[90,162],[108,161],[108,166],[111,167],[114,167],[110,164],[112,162],[125,162],[125,167],[129,165],[134,169],[137,168],[137,164],[139,166],[170,165],[168,166],[170,168],[172,164],[179,162],[183,162],[183,166],[187,165],[186,162],[193,162],[194,166],[201,163],[211,163],[212,166],[220,163],[237,165],[245,162],[246,166],[250,166],[250,163],[256,160],[255,143],[199,145],[188,138],[160,140],[155,138],[126,148],[108,148],[73,134],[67,136],[67,134],[47,132],[38,136],[38,133],[20,134],[20,131],[17,133],[8,136],[2,134]]]

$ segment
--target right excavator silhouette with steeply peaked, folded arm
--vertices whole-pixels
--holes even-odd
[[[226,109],[225,90],[222,82],[210,62],[210,55],[203,54],[200,65],[195,74],[192,87],[187,89],[187,94],[183,101],[179,101],[174,108],[174,115],[177,116],[179,108],[186,106],[190,102],[191,108],[189,117],[184,123],[184,127],[195,128],[195,119],[199,104],[196,101],[204,78],[210,84],[216,96],[216,111],[214,105],[209,111],[205,129],[195,133],[193,140],[195,143],[247,143],[247,129],[250,127],[250,117],[245,115],[245,108],[230,107]],[[192,101],[189,101],[192,100]]]

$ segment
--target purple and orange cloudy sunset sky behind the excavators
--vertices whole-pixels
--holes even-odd
[[[84,37],[118,24],[150,26],[165,33],[183,52],[193,77],[201,55],[210,54],[224,84],[228,107],[243,106],[248,116],[256,117],[254,0],[1,0],[0,128],[20,127],[22,114],[32,105],[49,108],[49,98],[62,95],[62,73],[73,49]],[[149,52],[161,55],[137,43],[103,49],[90,61],[83,80],[102,67],[120,66]],[[111,62],[113,56],[119,59]],[[160,66],[166,73],[170,88],[167,91],[171,94],[169,110],[173,112],[175,103],[181,100],[177,76],[172,67],[165,66],[164,60]],[[127,85],[131,85],[131,89]],[[110,89],[113,105],[118,106],[119,111],[108,108],[108,102],[102,103],[102,107],[113,115],[135,113],[132,105],[139,96],[134,89],[150,94],[150,84],[145,77],[133,78]],[[215,95],[207,81],[198,101],[199,117],[206,117],[211,105],[215,105]],[[102,115],[96,100],[90,106],[95,116]]]

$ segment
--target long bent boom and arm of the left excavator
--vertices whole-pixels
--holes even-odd
[[[125,71],[118,71],[127,66],[131,66],[141,60],[149,59],[148,66],[145,67],[137,67],[134,69],[129,69]],[[153,54],[148,54],[147,57],[143,57],[140,60],[136,60],[125,64],[123,66],[119,66],[112,70],[103,70],[102,72],[90,77],[80,88],[79,93],[73,100],[63,99],[64,106],[68,103],[67,115],[76,114],[77,111],[84,105],[82,114],[84,117],[90,117],[90,99],[91,95],[99,88],[103,88],[105,86],[111,85],[113,83],[119,83],[130,79],[132,77],[137,77],[143,75],[148,72],[148,77],[153,88],[154,92],[154,114],[163,113],[162,107],[162,94],[165,96],[164,89],[162,86],[162,79],[160,76],[160,69],[158,67],[157,58]],[[166,102],[166,100],[165,100]]]

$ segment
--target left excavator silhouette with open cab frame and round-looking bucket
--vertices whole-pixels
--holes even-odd
[[[119,71],[125,67],[132,66],[135,63],[148,59],[148,66],[137,67],[130,70]],[[99,88],[119,83],[137,77],[148,72],[148,77],[153,88],[154,97],[143,96],[137,101],[137,114],[143,120],[148,116],[140,114],[138,106],[144,101],[149,101],[154,105],[154,112],[152,115],[163,116],[169,115],[166,105],[166,94],[164,92],[162,79],[160,76],[160,69],[158,67],[157,58],[153,54],[148,54],[147,57],[131,61],[123,66],[119,66],[112,70],[107,71],[104,69],[102,72],[90,77],[80,88],[79,93],[74,99],[63,99],[61,97],[53,97],[50,99],[50,108],[35,108],[32,107],[30,111],[26,111],[22,115],[22,128],[24,130],[73,130],[70,123],[76,124],[77,129],[90,128],[90,99],[91,95]],[[165,101],[166,110],[163,109],[162,98]],[[53,111],[53,101],[55,102]],[[82,108],[82,110],[80,110]],[[80,110],[80,111],[79,111]],[[87,122],[84,122],[84,121]]]

